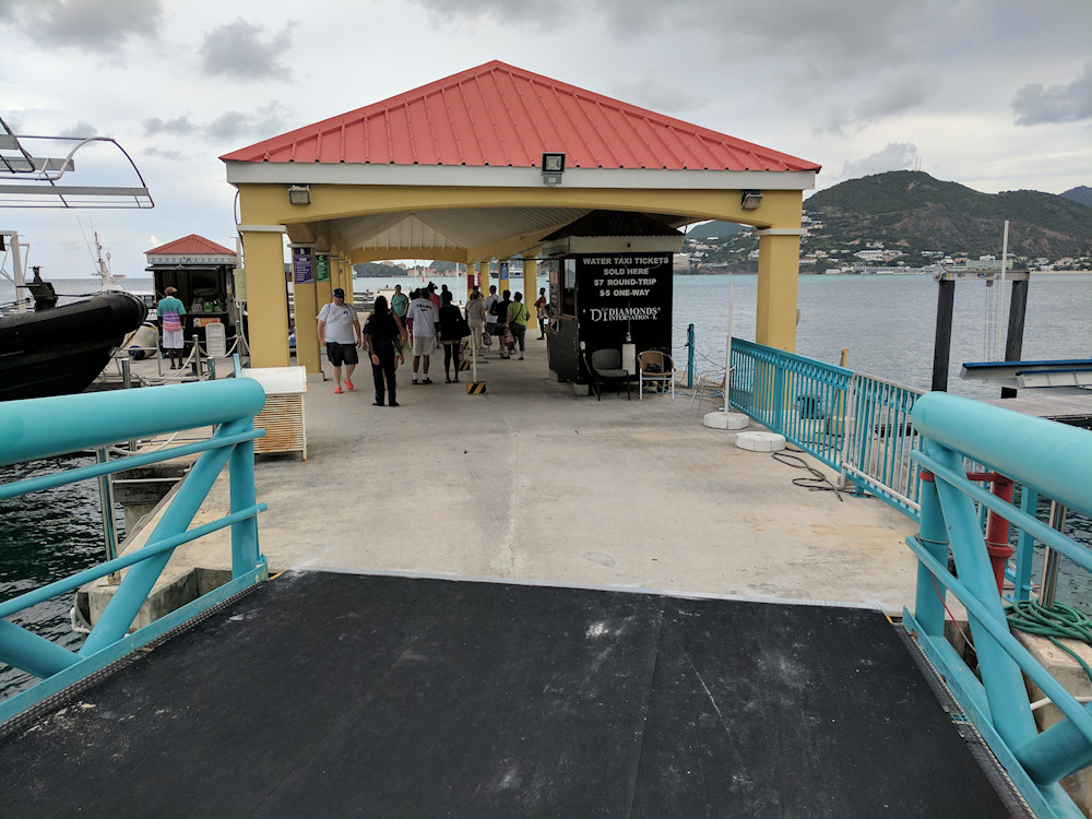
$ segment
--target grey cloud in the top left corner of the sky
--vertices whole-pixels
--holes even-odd
[[[161,0],[9,0],[10,14],[41,47],[70,46],[114,52],[129,39],[155,39],[163,22]]]

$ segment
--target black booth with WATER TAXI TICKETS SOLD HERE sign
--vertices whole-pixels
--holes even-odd
[[[595,349],[672,352],[672,257],[681,248],[681,233],[640,213],[593,211],[546,237],[539,265],[559,381],[586,382],[584,355]]]

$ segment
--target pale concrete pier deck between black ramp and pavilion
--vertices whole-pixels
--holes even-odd
[[[413,387],[410,375],[407,361],[399,407],[372,406],[366,363],[354,392],[335,395],[332,381],[312,377],[308,460],[257,459],[271,572],[838,601],[892,614],[912,604],[904,538],[915,524],[875,498],[794,485],[805,470],[702,425],[719,402],[689,408],[686,392],[638,401],[636,390],[632,400],[575,396],[549,372],[537,340],[525,360],[490,355],[478,370],[482,395],[466,394],[466,371],[444,383],[442,354],[431,360],[432,384]],[[226,508],[225,486],[206,501],[209,519]],[[179,549],[168,573],[227,568],[229,554],[221,533]]]

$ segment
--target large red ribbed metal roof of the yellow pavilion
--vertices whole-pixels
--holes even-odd
[[[219,157],[224,162],[669,170],[819,165],[494,60]]]

